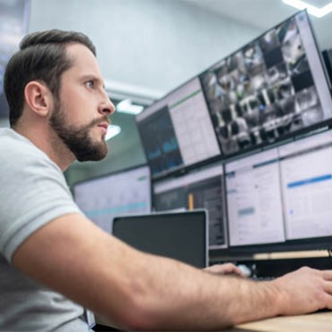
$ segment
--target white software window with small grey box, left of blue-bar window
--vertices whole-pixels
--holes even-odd
[[[225,172],[229,245],[285,241],[278,150],[229,162]]]

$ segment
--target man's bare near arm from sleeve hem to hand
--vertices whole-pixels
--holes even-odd
[[[13,264],[119,328],[220,329],[332,309],[332,271],[303,269],[270,282],[217,276],[141,253],[80,214],[37,230]]]

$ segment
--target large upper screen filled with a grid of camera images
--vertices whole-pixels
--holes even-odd
[[[224,158],[326,125],[328,79],[305,11],[200,75]]]

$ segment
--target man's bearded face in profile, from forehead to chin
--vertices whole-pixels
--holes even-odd
[[[67,54],[73,66],[62,74],[50,126],[79,162],[99,161],[107,154],[104,137],[114,106],[94,54],[79,44],[68,46]]]

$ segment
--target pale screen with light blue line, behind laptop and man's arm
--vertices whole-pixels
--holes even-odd
[[[74,185],[73,194],[81,211],[111,233],[114,217],[151,212],[150,169],[143,165],[91,178]]]

